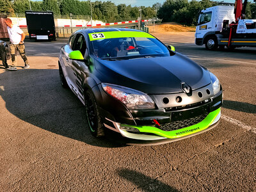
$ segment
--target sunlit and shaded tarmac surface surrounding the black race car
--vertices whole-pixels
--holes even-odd
[[[67,39],[26,40],[31,68],[20,57],[15,72],[0,65],[1,191],[256,191],[256,48],[206,51],[194,33],[153,35],[220,79],[220,124],[155,146],[93,138],[83,104],[60,84]]]

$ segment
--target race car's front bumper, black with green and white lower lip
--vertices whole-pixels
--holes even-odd
[[[208,100],[208,99],[207,99]],[[120,132],[125,138],[132,140],[131,143],[138,145],[159,145],[160,143],[169,143],[172,141],[182,140],[195,134],[208,131],[218,125],[221,116],[222,90],[214,95],[207,102],[201,101],[196,104],[182,106],[182,108],[164,108],[143,111],[131,111],[130,116],[117,120],[111,113],[105,113],[102,116],[104,126],[116,132]],[[106,111],[105,111],[106,112]],[[108,115],[107,115],[108,114]],[[194,121],[198,116],[199,120]],[[152,120],[156,119],[160,127],[154,124]],[[191,123],[186,121],[192,120]],[[177,122],[179,122],[177,124]],[[183,123],[186,124],[183,124]],[[174,128],[173,124],[177,124]],[[164,127],[171,125],[172,129]],[[164,128],[163,128],[163,127]],[[129,143],[129,142],[128,142]]]

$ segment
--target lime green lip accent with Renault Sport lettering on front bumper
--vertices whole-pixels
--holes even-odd
[[[220,113],[220,108],[209,113],[209,115],[207,115],[205,119],[202,120],[202,122],[195,125],[191,125],[189,127],[178,129],[175,131],[163,131],[161,129],[158,129],[157,127],[151,127],[151,126],[132,126],[132,125],[124,125],[124,126],[134,127],[138,129],[140,132],[150,132],[150,133],[157,134],[159,136],[163,136],[164,138],[175,139],[175,138],[181,138],[189,134],[194,134],[196,132],[200,132],[200,131],[203,131],[204,129],[207,129],[209,125],[212,124],[212,122],[218,116],[219,113]]]

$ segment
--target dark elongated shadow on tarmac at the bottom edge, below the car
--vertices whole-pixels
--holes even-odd
[[[177,192],[179,190],[173,188],[172,186],[168,186],[168,184],[164,184],[163,182],[152,179],[144,175],[143,173],[136,172],[134,170],[129,170],[127,168],[122,168],[117,170],[119,176],[123,177],[126,180],[129,180],[133,184],[137,186],[136,189],[141,191],[170,191]]]

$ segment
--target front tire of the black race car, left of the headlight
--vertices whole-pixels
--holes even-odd
[[[92,91],[87,90],[84,95],[85,112],[90,132],[96,138],[104,136],[104,126],[100,118],[99,108]]]

